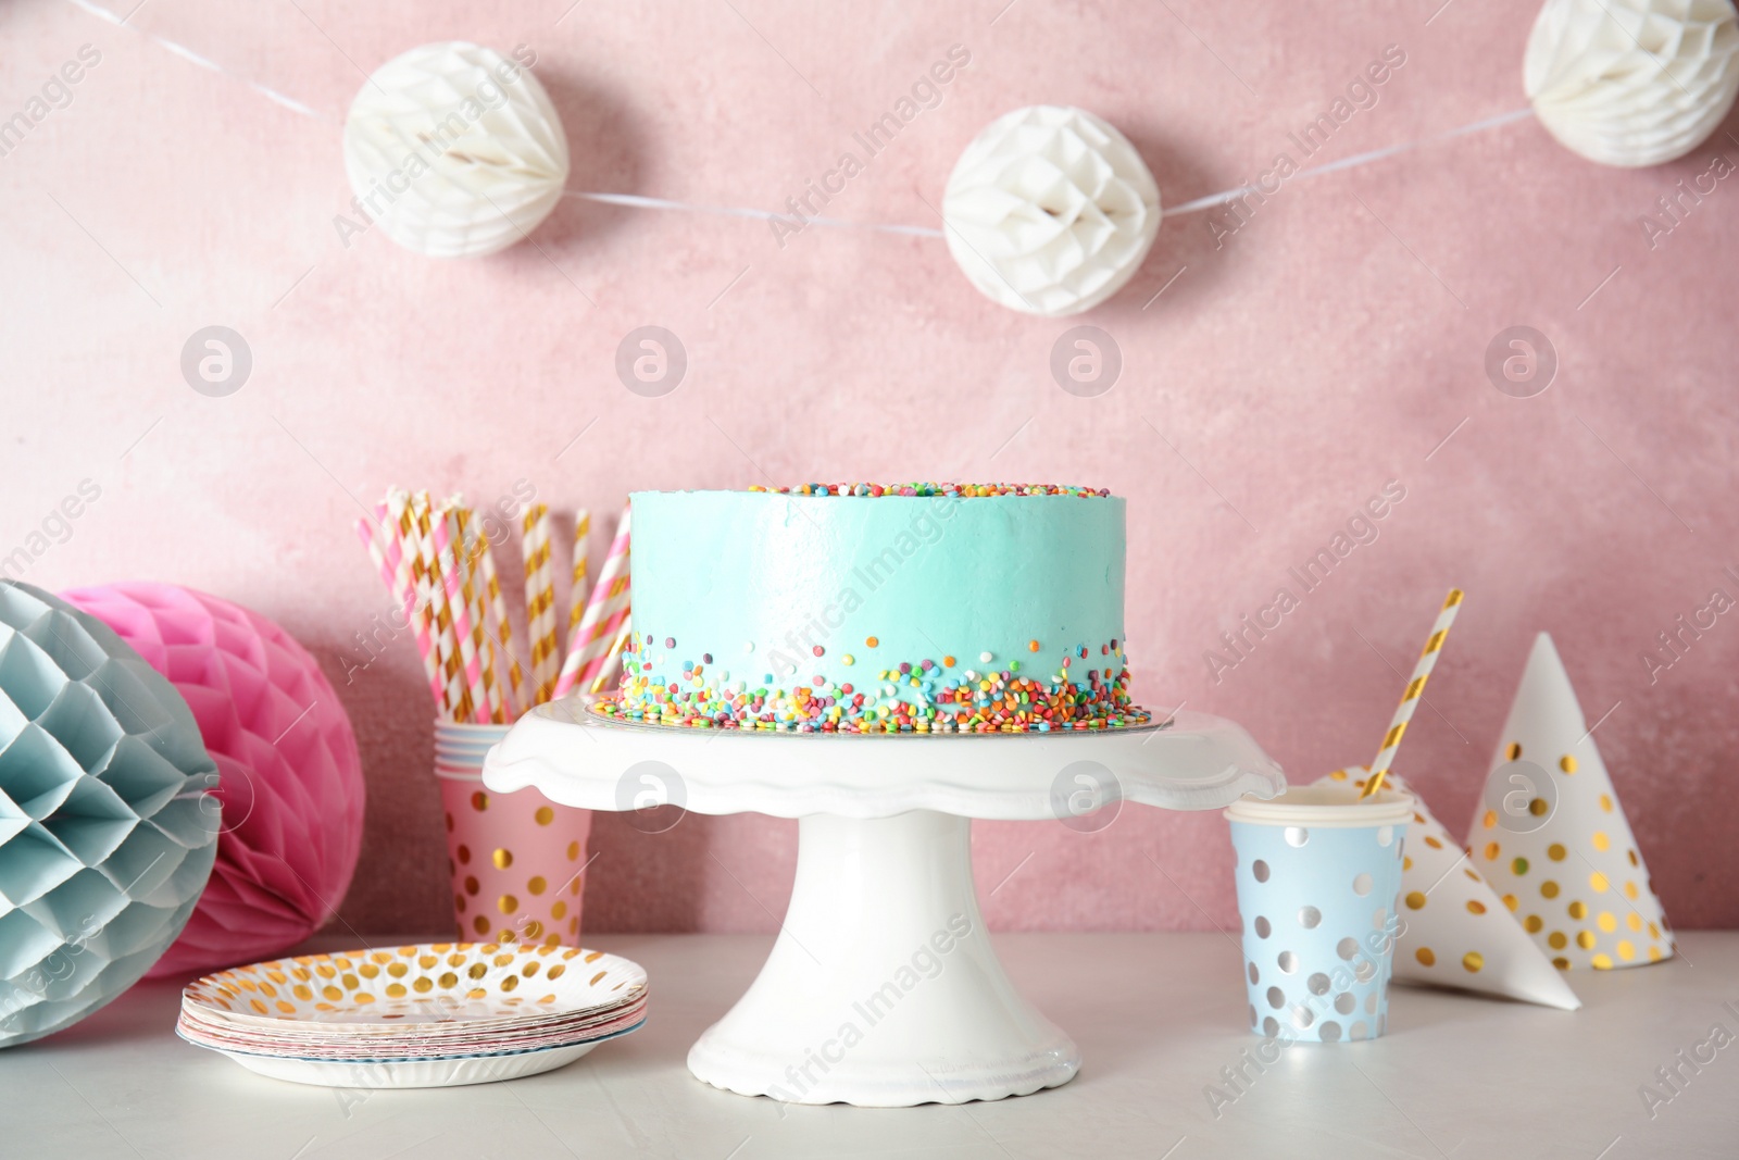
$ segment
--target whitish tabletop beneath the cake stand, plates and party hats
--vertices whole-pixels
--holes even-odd
[[[1205,1089],[1261,1043],[1243,1031],[1240,957],[1219,934],[996,936],[1014,981],[1080,1043],[1080,1077],[903,1110],[783,1106],[689,1075],[689,1045],[770,937],[595,944],[650,972],[647,1026],[550,1075],[449,1090],[250,1075],[174,1037],[176,986],[141,984],[0,1052],[0,1157],[1739,1157],[1739,1042],[1683,1068],[1654,1118],[1638,1094],[1715,1024],[1739,1035],[1739,932],[1682,932],[1675,962],[1577,974],[1579,1012],[1398,986],[1388,1037],[1290,1045],[1217,1118]]]

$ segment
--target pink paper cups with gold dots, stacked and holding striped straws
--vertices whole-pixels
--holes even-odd
[[[508,729],[435,722],[454,918],[468,941],[579,946],[591,810],[485,790],[483,757]]]

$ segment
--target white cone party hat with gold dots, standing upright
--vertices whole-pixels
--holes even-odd
[[[1509,706],[1468,850],[1560,970],[1673,955],[1636,835],[1546,633]]]

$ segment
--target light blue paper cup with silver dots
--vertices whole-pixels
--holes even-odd
[[[1383,1035],[1412,797],[1297,786],[1233,802],[1226,819],[1250,1031],[1322,1043]]]

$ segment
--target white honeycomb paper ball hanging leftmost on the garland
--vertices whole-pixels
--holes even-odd
[[[562,120],[530,70],[463,40],[383,64],[344,122],[360,209],[430,257],[513,245],[562,200],[567,169]]]

